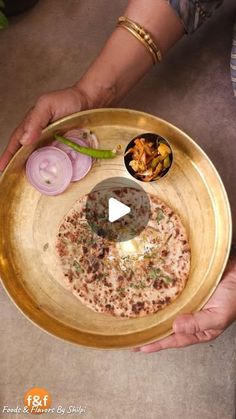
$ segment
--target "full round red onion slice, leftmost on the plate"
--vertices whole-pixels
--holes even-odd
[[[58,195],[71,182],[72,163],[67,154],[56,147],[42,147],[34,151],[26,163],[28,181],[45,195]]]

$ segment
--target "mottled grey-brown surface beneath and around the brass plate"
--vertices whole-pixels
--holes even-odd
[[[0,150],[40,93],[79,78],[125,4],[41,0],[0,33]],[[236,103],[229,57],[235,15],[234,0],[226,0],[121,103],[169,120],[204,148],[222,175],[234,219]],[[235,418],[235,324],[211,344],[144,355],[57,340],[25,319],[3,290],[0,307],[0,405],[20,404],[24,391],[37,385],[52,393],[54,405],[86,405],[89,419]]]

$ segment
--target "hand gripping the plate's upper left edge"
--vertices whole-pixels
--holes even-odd
[[[42,129],[49,122],[88,107],[87,97],[78,87],[70,87],[42,95],[12,133],[9,143],[0,157],[0,170],[5,169],[21,145],[37,141]]]

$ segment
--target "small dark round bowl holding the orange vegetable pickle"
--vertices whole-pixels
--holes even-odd
[[[151,132],[147,132],[147,133],[144,133],[144,134],[140,134],[140,135],[137,135],[135,138],[133,138],[130,142],[129,142],[129,144],[127,145],[127,147],[126,147],[126,149],[125,149],[125,154],[126,154],[126,152],[130,149],[130,148],[132,148],[132,147],[134,147],[134,141],[137,139],[137,138],[144,138],[145,140],[148,140],[149,142],[152,142],[152,143],[154,143],[154,144],[156,144],[157,143],[157,141],[159,142],[159,143],[164,143],[164,144],[166,144],[170,149],[171,149],[171,154],[169,155],[169,157],[170,157],[170,166],[167,168],[167,169],[165,169],[165,170],[163,170],[162,172],[161,172],[161,174],[156,178],[156,179],[153,179],[153,180],[150,180],[150,182],[155,182],[155,181],[157,181],[158,179],[160,179],[160,178],[162,178],[163,176],[165,176],[168,172],[169,172],[169,170],[170,170],[170,168],[171,168],[171,166],[172,166],[172,162],[173,162],[173,151],[172,151],[172,147],[171,147],[171,145],[170,145],[170,143],[165,139],[165,138],[163,138],[161,135],[158,135],[158,134],[154,134],[154,133],[151,133]],[[129,172],[129,174],[131,175],[131,176],[133,176],[135,179],[137,179],[137,180],[140,180],[141,182],[146,182],[145,180],[143,180],[141,177],[139,177],[139,176],[137,176],[137,174],[136,174],[136,172],[132,169],[132,167],[129,165],[129,163],[131,162],[131,160],[132,160],[132,154],[130,153],[130,154],[127,154],[127,156],[124,156],[124,163],[125,163],[125,167],[126,167],[126,169],[128,170],[128,172]]]

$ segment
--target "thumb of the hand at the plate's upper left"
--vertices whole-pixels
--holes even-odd
[[[23,122],[23,135],[19,138],[21,144],[30,144],[36,141],[52,119],[50,95],[39,98],[36,105],[28,112]]]

